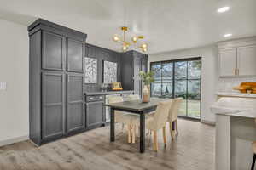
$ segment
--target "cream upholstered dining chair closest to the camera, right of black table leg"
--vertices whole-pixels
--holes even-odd
[[[162,128],[164,144],[166,146],[166,122],[169,116],[169,110],[172,107],[172,99],[162,101],[157,105],[154,115],[147,116],[145,120],[146,128],[153,132],[153,149],[158,150],[158,130]],[[138,116],[133,116],[131,123],[133,126],[139,126]]]

